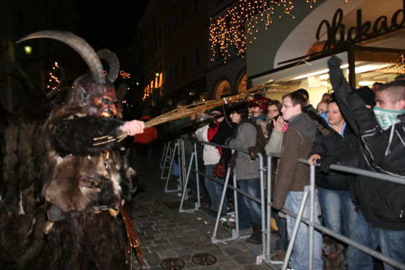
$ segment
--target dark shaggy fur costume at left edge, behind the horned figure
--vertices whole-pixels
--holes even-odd
[[[7,261],[23,262],[30,247],[34,256],[41,249],[30,238],[36,224],[44,219],[43,210],[38,207],[41,181],[34,149],[39,129],[49,112],[50,108],[32,99],[10,116],[5,129],[1,164],[5,196],[0,202],[0,245],[2,257]],[[30,268],[34,269],[32,265]]]

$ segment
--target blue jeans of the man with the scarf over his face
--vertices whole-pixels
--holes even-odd
[[[364,219],[361,211],[357,213],[353,226],[356,228],[352,233],[353,240],[371,249],[380,247],[381,253],[385,256],[405,263],[405,231],[391,231],[374,227]],[[372,270],[373,258],[349,245],[347,249],[347,269]],[[384,269],[392,270],[396,268],[384,262]]]

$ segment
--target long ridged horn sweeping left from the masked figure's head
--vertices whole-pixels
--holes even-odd
[[[105,83],[103,65],[101,65],[101,61],[98,59],[96,52],[94,52],[93,48],[84,39],[72,34],[71,32],[46,30],[28,34],[22,39],[19,39],[16,43],[20,43],[28,39],[39,38],[56,39],[57,41],[61,41],[69,45],[73,50],[80,54],[81,58],[83,58],[83,60],[87,63],[93,79],[97,83]]]

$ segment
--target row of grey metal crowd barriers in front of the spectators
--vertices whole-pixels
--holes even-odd
[[[238,152],[243,152],[246,154],[249,154],[245,149],[232,149],[231,147],[228,147],[226,145],[217,145],[215,143],[207,143],[207,142],[203,142],[203,141],[194,141],[194,143],[201,143],[203,145],[212,145],[212,146],[218,146],[218,147],[222,147],[222,148],[226,148],[226,149],[231,149],[232,151],[238,151]],[[183,145],[184,142],[182,141],[181,144]],[[175,147],[176,149],[176,147]],[[175,152],[175,151],[174,151]],[[207,174],[203,173],[203,172],[198,172],[198,163],[197,163],[197,153],[196,153],[196,145],[194,145],[194,153],[191,154],[191,158],[190,158],[190,162],[189,162],[189,166],[186,169],[185,168],[185,162],[184,162],[184,147],[183,147],[183,154],[181,155],[183,158],[183,175],[185,177],[183,177],[183,187],[185,187],[185,189],[183,190],[183,196],[182,196],[182,200],[180,203],[180,208],[179,211],[195,211],[198,209],[198,207],[200,206],[200,191],[199,191],[199,178],[198,175],[204,176],[205,178],[208,178],[210,180],[215,181],[216,183],[219,183],[220,185],[224,185],[224,189],[222,190],[222,198],[220,200],[220,207],[219,209],[222,209],[222,205],[224,203],[225,200],[225,195],[226,195],[226,190],[227,188],[229,189],[233,189],[233,198],[234,199],[234,204],[235,204],[235,216],[236,216],[236,230],[232,230],[232,237],[231,238],[227,238],[227,239],[222,239],[219,240],[216,238],[216,233],[218,231],[218,225],[220,222],[220,211],[218,211],[218,215],[216,216],[216,222],[214,225],[214,233],[211,236],[211,242],[217,243],[217,242],[223,242],[226,243],[228,240],[235,240],[236,238],[244,238],[243,236],[240,237],[239,235],[239,226],[238,226],[238,200],[236,199],[237,193],[242,194],[243,196],[247,196],[248,198],[251,198],[252,200],[256,201],[257,203],[260,203],[261,205],[261,214],[262,214],[262,253],[259,255],[261,256],[261,258],[263,258],[264,262],[266,262],[267,264],[269,264],[270,266],[272,266],[272,264],[282,264],[282,270],[287,269],[288,266],[288,262],[289,262],[289,258],[291,256],[291,252],[293,249],[293,245],[295,242],[295,238],[298,234],[298,229],[300,226],[300,222],[303,222],[304,224],[309,225],[309,264],[308,264],[308,269],[312,269],[312,263],[313,263],[313,234],[314,234],[314,229],[317,229],[318,231],[322,231],[324,233],[326,233],[329,236],[332,236],[333,238],[336,238],[337,240],[340,240],[342,242],[345,242],[348,245],[352,245],[353,247],[360,249],[361,251],[364,251],[364,253],[367,253],[370,256],[373,256],[374,258],[377,258],[379,260],[382,260],[383,262],[386,262],[388,264],[391,264],[393,267],[396,267],[397,269],[402,269],[405,270],[405,264],[398,262],[396,260],[393,260],[392,258],[389,258],[387,256],[384,256],[382,253],[377,252],[373,249],[370,249],[369,247],[366,247],[364,245],[361,245],[358,242],[355,242],[353,240],[351,240],[350,238],[347,238],[346,236],[342,236],[342,234],[340,233],[335,233],[334,231],[331,231],[331,229],[328,229],[320,224],[317,224],[315,222],[313,222],[314,219],[314,209],[316,207],[315,205],[315,196],[314,196],[314,191],[315,191],[315,166],[319,166],[319,165],[310,165],[310,174],[309,174],[309,184],[308,186],[304,187],[304,198],[302,199],[302,203],[300,205],[300,209],[298,211],[298,214],[293,213],[292,211],[289,211],[289,209],[282,209],[280,211],[282,211],[284,214],[287,214],[289,216],[293,216],[295,218],[295,225],[293,228],[293,233],[290,236],[290,240],[289,240],[289,245],[287,247],[287,252],[286,252],[286,256],[284,258],[284,261],[273,261],[270,259],[270,247],[271,247],[271,233],[270,233],[270,219],[271,219],[271,159],[272,158],[280,158],[280,154],[276,154],[276,153],[270,153],[267,156],[267,165],[266,167],[264,167],[263,165],[263,157],[262,154],[258,153],[258,158],[259,158],[259,162],[260,162],[260,196],[261,198],[256,198],[254,196],[251,196],[250,194],[247,194],[245,191],[242,191],[241,189],[237,188],[236,185],[236,176],[233,175],[233,185],[229,185],[229,178],[230,178],[230,169],[227,169],[227,174],[225,177],[225,181],[222,183],[221,181],[217,180],[216,178],[213,178],[211,176],[208,176]],[[174,156],[173,156],[174,158]],[[172,162],[173,162],[173,158],[172,158]],[[194,161],[195,164],[195,169],[192,168],[192,163]],[[303,163],[306,165],[308,164],[308,160],[304,159],[304,158],[298,158],[298,163]],[[172,167],[172,164],[171,164]],[[392,182],[392,183],[397,183],[397,184],[401,184],[401,185],[405,185],[404,183],[404,179],[400,178],[400,177],[396,177],[396,176],[391,176],[388,174],[382,174],[382,173],[377,173],[377,172],[371,172],[371,171],[367,171],[364,169],[358,169],[355,167],[349,167],[349,166],[343,166],[343,165],[331,165],[330,166],[331,169],[335,170],[335,171],[339,171],[339,172],[348,172],[351,174],[357,174],[357,175],[361,175],[361,176],[368,176],[371,178],[377,178],[380,180],[386,180],[388,182]],[[187,171],[187,174],[185,173]],[[194,209],[188,209],[185,210],[183,209],[183,201],[185,199],[187,199],[187,183],[189,180],[189,175],[190,173],[194,172],[196,173],[196,180],[197,180],[197,198],[198,198],[198,203],[196,203],[195,208]],[[267,172],[267,176],[264,177],[264,172]],[[267,180],[267,185],[264,185],[264,181]],[[267,191],[267,198],[265,198],[264,196],[264,187],[266,187],[266,191]],[[309,215],[309,220],[307,218],[303,218],[303,213],[304,213],[304,207],[307,203],[307,198],[309,196],[309,207],[310,207],[310,215]],[[265,209],[266,208],[266,209]],[[263,218],[264,217],[264,218]],[[267,217],[267,218],[266,218]]]

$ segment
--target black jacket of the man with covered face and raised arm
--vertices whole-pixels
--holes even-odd
[[[405,116],[400,122],[383,130],[378,125],[373,110],[355,94],[340,70],[340,59],[329,59],[329,76],[335,98],[344,118],[351,124],[360,139],[364,158],[360,168],[399,176],[405,183]],[[382,229],[405,230],[405,185],[358,176],[351,185],[351,196],[364,218]]]

